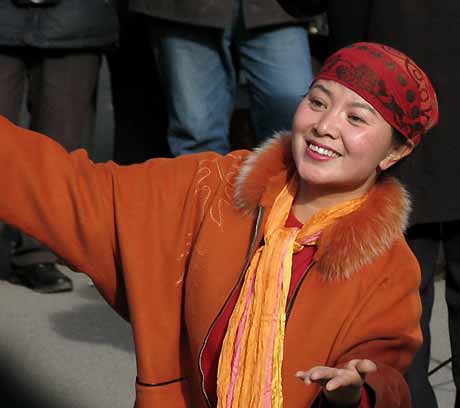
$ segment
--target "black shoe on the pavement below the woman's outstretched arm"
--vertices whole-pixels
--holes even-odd
[[[70,278],[52,263],[14,266],[8,280],[39,293],[67,292],[73,289]]]

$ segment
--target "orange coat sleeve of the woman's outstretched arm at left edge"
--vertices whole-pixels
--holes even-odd
[[[126,316],[115,257],[111,165],[0,118],[0,219],[35,237],[73,269],[104,274],[109,303]],[[103,271],[103,272],[102,272]]]

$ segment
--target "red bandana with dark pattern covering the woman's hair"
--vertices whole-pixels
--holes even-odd
[[[427,75],[391,47],[361,42],[342,48],[325,61],[318,79],[356,92],[414,143],[438,122],[436,93]]]

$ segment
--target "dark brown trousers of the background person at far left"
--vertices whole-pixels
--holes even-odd
[[[30,129],[68,151],[82,147],[93,128],[100,64],[96,51],[0,48],[0,114],[25,125],[25,101]],[[56,261],[36,240],[22,233],[15,236],[13,265]]]

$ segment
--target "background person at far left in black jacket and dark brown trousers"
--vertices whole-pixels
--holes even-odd
[[[112,0],[0,1],[0,114],[19,123],[25,98],[30,129],[68,151],[85,145],[102,52],[117,35]],[[7,235],[13,241],[10,280],[43,293],[72,289],[50,250],[21,232]]]

